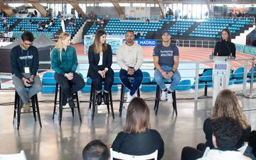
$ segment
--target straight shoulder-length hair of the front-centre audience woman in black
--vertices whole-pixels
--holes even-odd
[[[150,128],[149,107],[142,98],[133,98],[127,108],[125,133],[141,133]]]

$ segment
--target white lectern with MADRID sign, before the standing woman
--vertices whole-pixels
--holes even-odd
[[[213,62],[213,106],[215,99],[220,91],[228,88],[230,79],[230,60],[235,57],[212,57]]]

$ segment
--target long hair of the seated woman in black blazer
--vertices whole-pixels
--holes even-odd
[[[102,35],[107,35],[104,30],[97,30],[97,32],[95,33],[95,40],[92,44],[95,54],[99,54],[101,51],[102,52],[107,51],[107,42],[105,42],[105,43],[100,42],[100,37]],[[101,46],[100,46],[100,44],[101,44]],[[100,47],[102,50],[100,50]]]

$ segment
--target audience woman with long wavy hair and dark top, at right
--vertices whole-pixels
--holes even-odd
[[[238,143],[235,144],[236,149],[242,147],[242,144],[248,141],[250,137],[251,127],[247,118],[242,113],[242,104],[240,103],[240,101],[238,101],[238,98],[235,96],[235,93],[233,93],[233,91],[225,89],[223,91],[220,91],[220,93],[218,94],[212,115],[210,116],[210,118],[207,118],[203,123],[203,132],[205,132],[206,134],[206,143],[198,144],[197,149],[194,149],[192,147],[184,147],[181,153],[182,160],[198,159],[203,156],[203,152],[206,147],[210,147],[210,149],[214,148],[212,141],[212,121],[216,118],[221,117],[228,117],[239,120],[242,125],[242,137],[240,138]]]

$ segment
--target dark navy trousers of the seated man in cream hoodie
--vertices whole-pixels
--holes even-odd
[[[132,75],[134,77],[134,82],[132,84],[129,82],[128,77],[130,75],[127,74],[126,70],[121,69],[119,72],[119,76],[122,84],[124,84],[124,86],[126,86],[130,90],[131,96],[134,95],[139,86],[142,84],[143,75],[141,69],[137,69],[137,71],[134,72],[134,74]]]

